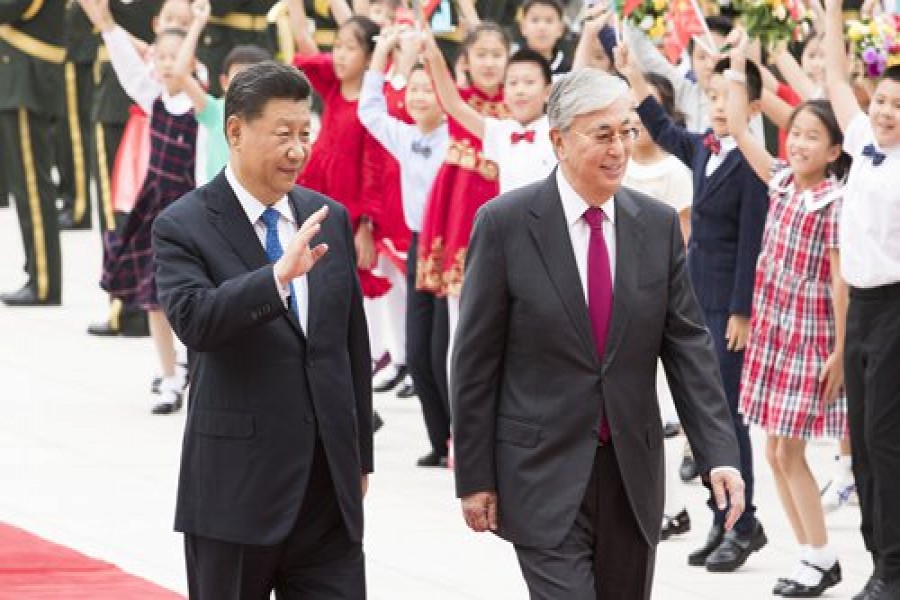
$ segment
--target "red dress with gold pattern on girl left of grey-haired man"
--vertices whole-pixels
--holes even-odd
[[[508,115],[502,90],[494,96],[475,87],[459,93],[482,115],[500,119]],[[452,117],[447,125],[450,145],[425,208],[416,288],[438,296],[459,296],[475,213],[500,193],[500,184],[497,164],[484,158],[481,140]]]

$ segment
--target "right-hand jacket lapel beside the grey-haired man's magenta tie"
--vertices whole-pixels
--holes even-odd
[[[624,188],[616,192],[616,273],[613,282],[613,309],[602,372],[612,364],[622,342],[629,319],[629,306],[637,290],[641,255],[644,251],[644,226],[638,219],[640,209]]]

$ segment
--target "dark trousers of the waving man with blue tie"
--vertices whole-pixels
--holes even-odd
[[[273,590],[278,600],[366,597],[362,543],[347,535],[321,441],[284,542],[253,546],[185,534],[184,549],[191,600],[269,600]]]

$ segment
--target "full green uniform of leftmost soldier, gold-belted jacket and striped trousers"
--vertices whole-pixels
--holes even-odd
[[[59,304],[62,264],[53,120],[63,112],[63,0],[0,0],[0,156],[25,246],[28,283],[6,304]]]

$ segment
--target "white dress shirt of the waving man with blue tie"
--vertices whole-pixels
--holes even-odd
[[[265,222],[262,220],[262,214],[268,207],[254,198],[253,195],[240,184],[234,171],[231,169],[231,164],[225,167],[225,178],[228,180],[231,189],[234,190],[234,195],[237,196],[238,202],[241,203],[241,208],[244,209],[244,213],[247,215],[250,225],[253,226],[253,230],[256,232],[256,237],[259,238],[259,243],[262,244],[262,247],[265,250],[267,228]],[[278,241],[281,242],[281,248],[286,250],[288,244],[290,244],[291,240],[294,239],[294,236],[297,235],[300,226],[294,219],[294,212],[291,210],[291,203],[287,196],[284,196],[281,200],[273,204],[272,208],[278,211]],[[297,277],[291,283],[294,287],[294,293],[297,295],[297,312],[299,313],[300,327],[306,332],[306,325],[309,321],[309,283],[306,280],[306,275]],[[281,301],[284,303],[285,307],[288,307],[288,297],[291,295],[290,286],[282,286],[277,278],[275,279],[275,285],[278,286],[278,291],[281,294]]]

